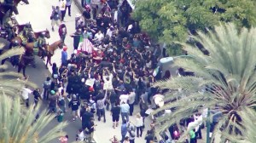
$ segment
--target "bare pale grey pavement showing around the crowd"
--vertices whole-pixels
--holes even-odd
[[[77,0],[76,0],[77,1]],[[32,24],[32,28],[34,31],[42,31],[45,30],[46,28],[50,32],[50,38],[47,40],[49,43],[54,43],[55,41],[59,40],[60,37],[57,32],[57,27],[55,26],[55,31],[51,31],[51,25],[50,25],[50,20],[49,16],[51,14],[51,6],[56,6],[58,4],[58,0],[32,0],[30,1],[29,5],[19,5],[19,15],[16,15],[16,19],[20,24],[30,22]],[[67,53],[68,53],[68,58],[70,57],[71,54],[73,54],[73,38],[69,37],[70,34],[72,34],[75,31],[75,14],[79,13],[79,9],[76,7],[75,3],[72,3],[71,7],[71,14],[72,16],[69,17],[66,14],[65,17],[65,24],[67,26],[67,37],[66,37],[66,44],[67,44]],[[0,39],[1,42],[6,42],[3,39]],[[61,49],[57,49],[55,51],[55,55],[52,57],[52,63],[55,62],[57,66],[61,65]],[[13,66],[10,66],[9,63],[9,71],[17,71]],[[28,66],[26,68],[26,75],[29,76],[29,81],[32,81],[33,83],[36,83],[38,87],[42,89],[44,80],[46,79],[47,76],[50,75],[51,68],[49,67],[49,70],[47,70],[44,66],[44,61],[41,60],[40,58],[36,57],[36,68],[32,68],[32,66]],[[32,96],[30,97],[30,102],[32,104],[33,98]],[[44,101],[43,104],[44,108],[47,108],[47,103]],[[135,112],[134,115],[137,114],[139,111],[138,106],[135,106]],[[96,116],[95,116],[96,117]],[[116,129],[112,128],[112,117],[110,116],[110,112],[106,112],[106,119],[107,123],[98,122],[96,120],[96,132],[94,134],[94,139],[96,140],[97,143],[108,143],[110,142],[109,139],[113,137],[113,135],[116,135],[119,139],[121,139],[121,132],[120,132],[120,126]],[[135,117],[130,117],[131,122],[135,122]],[[72,116],[70,110],[64,115],[64,121],[67,121],[69,124],[67,125],[67,128],[63,129],[64,131],[67,132],[69,135],[69,140],[68,142],[73,142],[75,140],[75,134],[77,134],[78,130],[81,129],[81,121],[77,120],[75,122],[72,122]],[[121,121],[121,119],[120,119]],[[146,134],[146,131],[149,128],[151,120],[149,117],[146,118],[145,120],[145,126],[146,129],[144,129],[143,132],[143,137],[141,138],[136,138],[135,141],[137,143],[143,143],[145,142],[144,136]],[[56,119],[54,119],[51,123],[48,124],[48,126],[43,130],[42,134],[46,134],[52,127],[55,126],[58,122]],[[203,137],[205,135],[203,134]],[[204,138],[206,139],[206,138]],[[57,143],[59,140],[55,139],[52,140],[50,143]],[[205,142],[205,140],[201,140],[199,142]]]

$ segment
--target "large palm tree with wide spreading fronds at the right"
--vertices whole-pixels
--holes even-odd
[[[238,30],[234,24],[216,26],[214,31],[208,31],[207,34],[199,31],[194,38],[207,49],[208,55],[193,45],[181,43],[189,57],[175,58],[174,65],[195,72],[195,77],[173,77],[155,84],[172,91],[182,89],[181,93],[166,95],[166,99],[175,99],[176,102],[168,103],[156,111],[172,109],[171,115],[158,118],[157,132],[208,108],[222,115],[212,139],[216,134],[243,136],[237,125],[243,129],[251,128],[244,124],[247,123],[243,122],[246,115],[242,114],[247,114],[245,109],[256,106],[255,34],[255,28]],[[204,94],[200,92],[201,89],[206,89]]]

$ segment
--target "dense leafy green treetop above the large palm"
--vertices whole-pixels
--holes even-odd
[[[253,0],[137,0],[132,16],[155,40],[172,45],[219,22],[256,26],[255,6]]]

